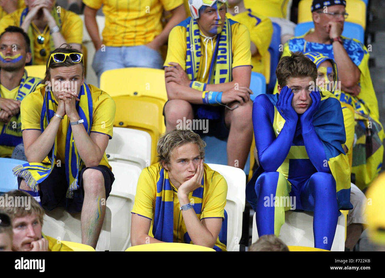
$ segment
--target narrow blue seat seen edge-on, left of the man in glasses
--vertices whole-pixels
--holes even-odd
[[[277,77],[275,75],[275,70],[281,58],[280,44],[281,44],[281,27],[277,23],[273,22],[273,36],[271,37],[271,43],[269,46],[270,83],[267,88],[269,93],[273,93],[275,82],[277,80]]]

